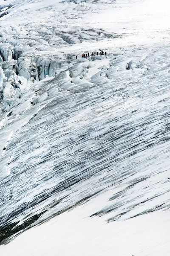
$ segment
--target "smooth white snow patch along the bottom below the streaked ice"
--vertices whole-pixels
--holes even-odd
[[[99,196],[26,231],[1,246],[1,255],[11,256],[11,252],[13,256],[170,255],[169,212],[106,224],[103,218],[88,217],[103,199],[103,195]]]

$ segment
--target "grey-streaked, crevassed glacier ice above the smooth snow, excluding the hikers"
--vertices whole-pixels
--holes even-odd
[[[91,217],[169,209],[168,7],[0,0],[0,243],[112,189]]]

